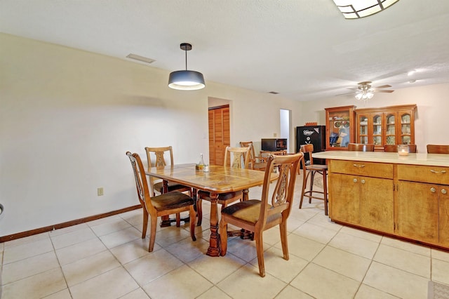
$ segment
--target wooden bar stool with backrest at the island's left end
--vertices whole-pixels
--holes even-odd
[[[302,200],[304,199],[304,197],[309,198],[309,204],[311,204],[311,199],[320,199],[324,201],[324,215],[328,215],[328,180],[326,178],[328,173],[328,166],[314,164],[314,159],[311,156],[312,152],[314,152],[314,145],[302,145],[300,148],[300,152],[302,152],[304,155],[309,154],[310,161],[309,165],[304,165],[304,163],[302,164],[302,167],[304,168],[304,178],[302,179],[300,208],[302,207]],[[323,175],[323,191],[314,190],[314,178],[316,173]],[[309,179],[309,176],[309,190],[306,190],[307,180]],[[318,194],[322,194],[322,196],[319,196]]]

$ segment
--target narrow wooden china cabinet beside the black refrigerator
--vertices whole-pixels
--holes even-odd
[[[354,142],[356,106],[326,108],[326,150],[347,150]]]

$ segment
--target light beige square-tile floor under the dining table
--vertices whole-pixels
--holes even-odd
[[[449,285],[449,253],[337,225],[322,201],[298,209],[300,185],[288,220],[290,260],[279,230],[264,232],[264,278],[253,241],[230,238],[225,257],[205,255],[208,214],[195,242],[188,225],[159,227],[149,253],[136,210],[0,244],[2,299],[424,299],[429,280]],[[252,188],[250,198],[260,192]]]

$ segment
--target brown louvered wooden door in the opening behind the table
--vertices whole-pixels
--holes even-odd
[[[209,108],[209,164],[223,165],[226,147],[231,145],[229,105]]]

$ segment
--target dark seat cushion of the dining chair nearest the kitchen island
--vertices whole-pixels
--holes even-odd
[[[222,214],[226,214],[232,216],[232,218],[236,218],[239,220],[246,221],[248,223],[255,224],[259,219],[260,215],[260,206],[262,201],[257,199],[250,199],[247,201],[241,201],[232,206],[227,206],[222,209]],[[270,206],[271,207],[271,206]],[[275,214],[269,216],[267,222],[272,222],[276,218],[281,218],[282,214]]]

